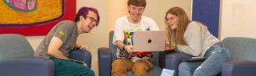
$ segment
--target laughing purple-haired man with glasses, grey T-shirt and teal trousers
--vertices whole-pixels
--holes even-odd
[[[80,63],[69,61],[69,52],[75,49],[87,50],[87,45],[76,43],[78,35],[89,33],[98,26],[98,10],[82,7],[76,18],[56,24],[35,50],[35,56],[54,61],[54,76],[95,76],[94,71]]]

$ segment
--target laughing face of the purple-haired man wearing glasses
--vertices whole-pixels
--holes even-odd
[[[98,19],[96,13],[88,11],[87,16],[80,16],[82,21],[82,31],[83,33],[89,33],[94,27],[97,26]]]

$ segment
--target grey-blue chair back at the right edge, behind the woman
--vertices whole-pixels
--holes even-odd
[[[222,41],[230,53],[232,61],[256,61],[256,39],[229,37]]]

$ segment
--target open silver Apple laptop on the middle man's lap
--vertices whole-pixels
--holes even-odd
[[[132,45],[135,52],[164,51],[165,38],[165,31],[134,31]]]

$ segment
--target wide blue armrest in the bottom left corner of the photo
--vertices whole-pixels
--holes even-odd
[[[1,76],[54,76],[54,62],[46,58],[21,57],[0,62]]]

